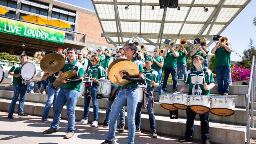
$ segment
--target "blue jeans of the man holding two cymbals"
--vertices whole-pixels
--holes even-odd
[[[64,104],[66,103],[66,111],[68,115],[68,132],[74,133],[75,131],[75,107],[80,92],[73,89],[62,89],[58,93],[56,103],[53,108],[53,120],[51,129],[57,129],[60,124],[60,114]]]

